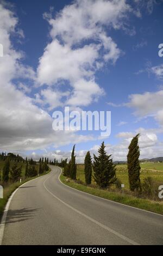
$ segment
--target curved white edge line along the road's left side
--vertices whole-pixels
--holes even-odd
[[[52,172],[52,171],[51,171]],[[39,179],[47,174],[50,174],[51,172],[49,173],[46,173],[44,175],[41,175],[37,178],[34,178],[32,180],[36,180],[36,179]],[[14,194],[17,192],[17,190],[22,187],[24,184],[27,184],[29,181],[32,181],[32,180],[28,180],[26,182],[24,182],[22,185],[20,185],[19,187],[16,188],[16,190],[14,190],[14,192],[12,192],[11,196],[9,197],[8,199],[8,202],[7,204],[5,205],[5,208],[4,208],[4,212],[3,212],[3,215],[2,215],[2,219],[1,219],[1,224],[0,224],[0,246],[2,245],[2,240],[3,240],[3,234],[4,234],[4,227],[5,227],[5,222],[6,222],[6,219],[7,219],[7,214],[8,214],[8,210],[9,210],[9,206],[10,206],[10,203],[11,203],[11,200],[12,198],[14,197]]]

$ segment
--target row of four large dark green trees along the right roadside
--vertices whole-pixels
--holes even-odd
[[[140,182],[140,163],[139,163],[139,134],[137,134],[129,145],[129,151],[127,155],[128,163],[128,178],[131,191],[141,191]],[[71,179],[76,179],[77,164],[76,156],[74,155],[73,146],[71,160],[64,167],[64,176],[70,177]],[[92,181],[92,169],[93,169],[93,179],[96,184],[101,188],[106,188],[115,184],[116,178],[116,166],[112,161],[111,155],[107,155],[105,151],[104,142],[102,142],[101,147],[98,149],[98,156],[93,154],[93,162],[90,155],[90,151],[87,151],[84,160],[84,173],[85,173],[85,183],[91,184]]]

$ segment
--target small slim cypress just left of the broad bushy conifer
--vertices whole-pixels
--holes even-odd
[[[91,184],[92,180],[92,161],[90,151],[87,151],[84,160],[84,173],[85,173],[85,183]]]

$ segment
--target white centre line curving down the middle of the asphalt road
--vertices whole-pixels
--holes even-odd
[[[59,197],[55,196],[55,194],[53,194],[51,191],[48,190],[48,188],[45,186],[45,182],[51,177],[48,177],[44,182],[43,182],[43,186],[45,187],[45,189],[57,200],[59,200],[59,202],[61,202],[62,204],[66,205],[68,208],[72,209],[73,211],[77,212],[79,215],[82,215],[83,217],[87,218],[87,220],[97,224],[99,227],[108,230],[110,233],[120,237],[122,240],[127,241],[128,243],[130,243],[131,245],[139,245],[139,243],[134,242],[133,240],[129,239],[128,237],[121,235],[120,233],[118,233],[117,231],[107,227],[106,225],[94,220],[93,218],[87,216],[86,214],[83,214],[83,212],[77,210],[76,208],[73,208],[71,205],[65,203],[64,201],[62,201]]]

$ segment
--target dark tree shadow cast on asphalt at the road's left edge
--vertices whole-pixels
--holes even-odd
[[[20,210],[8,210],[6,224],[30,220],[34,217],[34,212],[39,209],[22,208]]]

